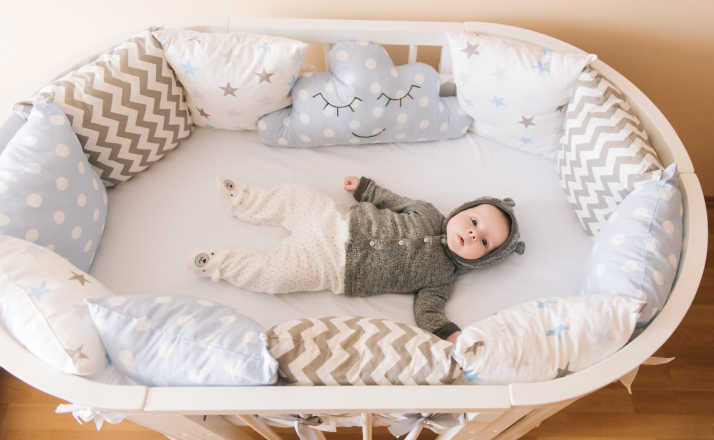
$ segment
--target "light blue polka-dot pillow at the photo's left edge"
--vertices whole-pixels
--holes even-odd
[[[65,114],[38,102],[0,153],[0,234],[47,246],[88,271],[106,197]]]

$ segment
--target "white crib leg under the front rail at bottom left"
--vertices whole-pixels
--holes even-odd
[[[139,414],[132,422],[160,432],[171,440],[253,440],[221,416],[182,416]]]

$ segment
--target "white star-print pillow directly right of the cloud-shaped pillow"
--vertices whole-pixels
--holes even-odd
[[[554,158],[580,72],[596,59],[475,33],[449,33],[456,95],[476,134]]]

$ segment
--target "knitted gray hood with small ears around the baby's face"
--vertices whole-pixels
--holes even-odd
[[[476,258],[474,260],[467,260],[456,255],[449,247],[444,243],[444,251],[451,258],[451,260],[456,264],[459,272],[465,272],[473,269],[483,269],[488,266],[492,266],[496,263],[500,263],[506,257],[511,255],[513,252],[523,255],[526,250],[526,244],[520,240],[521,235],[518,230],[518,221],[516,220],[515,214],[513,214],[513,207],[516,203],[511,198],[505,198],[503,200],[497,199],[495,197],[481,197],[471,202],[464,203],[458,208],[451,211],[445,219],[442,225],[442,231],[446,234],[446,224],[451,220],[451,217],[460,213],[463,210],[473,208],[474,206],[483,205],[487,203],[489,205],[494,205],[500,209],[506,216],[511,220],[511,232],[508,234],[508,238],[499,246],[496,250],[489,252],[481,258]]]

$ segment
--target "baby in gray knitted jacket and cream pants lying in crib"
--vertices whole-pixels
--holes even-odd
[[[508,198],[479,198],[444,217],[430,203],[394,194],[366,177],[345,178],[345,190],[360,202],[346,210],[305,186],[218,180],[235,217],[283,226],[291,234],[271,250],[199,252],[191,262],[196,275],[272,294],[414,294],[417,325],[452,342],[460,328],[444,308],[456,276],[525,250],[515,203]]]

